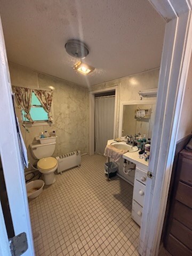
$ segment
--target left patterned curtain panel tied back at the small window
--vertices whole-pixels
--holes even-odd
[[[13,86],[13,92],[18,99],[19,105],[26,112],[25,117],[29,119],[31,123],[34,123],[30,116],[32,90],[29,88]]]

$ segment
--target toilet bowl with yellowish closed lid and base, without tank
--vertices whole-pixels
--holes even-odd
[[[45,185],[51,185],[56,181],[54,171],[57,170],[58,162],[54,157],[44,157],[37,162],[37,169],[43,174]]]

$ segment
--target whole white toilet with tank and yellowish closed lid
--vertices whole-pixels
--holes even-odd
[[[33,156],[39,159],[37,169],[43,174],[45,185],[51,185],[56,180],[54,171],[57,170],[58,162],[55,157],[52,157],[55,145],[56,142],[32,143],[30,145]]]

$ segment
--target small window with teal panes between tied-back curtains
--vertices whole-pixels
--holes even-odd
[[[25,117],[26,112],[22,110],[21,113],[22,113],[22,121],[25,123],[29,122],[29,119]],[[34,92],[32,92],[32,97],[31,97],[30,116],[34,122],[48,121],[48,113],[43,109],[41,102],[37,99],[37,96],[35,95]]]

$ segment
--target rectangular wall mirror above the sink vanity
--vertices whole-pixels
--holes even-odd
[[[122,136],[146,134],[146,138],[152,137],[155,122],[156,103],[141,102],[134,105],[123,106]]]

